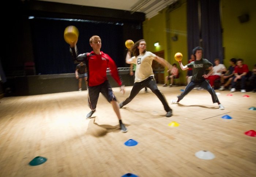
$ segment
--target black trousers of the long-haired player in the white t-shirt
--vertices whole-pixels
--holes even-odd
[[[162,102],[163,104],[163,107],[165,109],[166,112],[169,112],[170,110],[172,110],[166,99],[165,99],[165,96],[161,93],[160,90],[158,90],[158,87],[157,87],[157,82],[155,81],[155,78],[153,76],[150,76],[148,77],[146,80],[143,80],[142,82],[135,82],[133,84],[133,87],[132,87],[132,90],[131,90],[131,93],[129,95],[128,98],[126,98],[122,104],[123,106],[124,105],[127,105],[129,102],[132,101],[132,99],[139,93],[139,91],[141,89],[143,89],[144,87],[148,87],[155,95],[157,95],[157,97],[159,98],[159,100]]]

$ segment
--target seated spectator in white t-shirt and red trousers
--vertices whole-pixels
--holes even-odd
[[[208,78],[205,78],[206,80],[209,80],[211,87],[214,89],[214,81],[216,79],[221,78],[222,72],[225,72],[227,69],[225,65],[220,64],[219,59],[214,60],[215,66],[213,67],[213,72]]]

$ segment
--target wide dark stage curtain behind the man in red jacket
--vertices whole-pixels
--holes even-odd
[[[89,39],[99,35],[102,40],[101,50],[109,54],[117,67],[124,67],[123,29],[113,23],[71,22],[35,18],[30,20],[34,62],[37,74],[65,74],[75,72],[75,64],[69,53],[69,45],[64,41],[64,30],[74,25],[79,30],[79,53],[91,52]]]

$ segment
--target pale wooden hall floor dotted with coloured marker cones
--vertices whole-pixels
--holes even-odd
[[[0,99],[0,177],[255,177],[256,93],[218,90],[225,110],[206,90],[192,90],[180,103],[171,100],[184,87],[162,87],[172,117],[144,89],[120,109],[127,133],[120,132],[110,103],[100,95],[94,118],[86,119],[87,91]],[[118,101],[126,93],[113,88]],[[243,95],[249,97],[243,97]],[[224,119],[228,115],[232,119]],[[170,127],[175,121],[178,127]],[[133,139],[136,146],[125,146]],[[210,151],[214,159],[197,158]],[[47,161],[30,166],[35,157]]]

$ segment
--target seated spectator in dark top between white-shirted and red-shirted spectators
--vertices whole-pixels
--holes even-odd
[[[225,72],[225,74],[221,75],[221,88],[219,88],[219,91],[223,91],[229,87],[231,80],[234,76],[236,62],[237,60],[234,58],[229,60],[229,69]],[[224,83],[225,81],[226,83]]]

